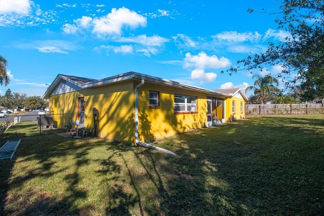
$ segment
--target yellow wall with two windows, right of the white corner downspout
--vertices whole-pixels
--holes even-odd
[[[149,91],[159,92],[160,108],[149,108]],[[175,114],[174,94],[197,97],[197,113]],[[139,140],[162,139],[192,128],[206,126],[206,94],[180,90],[156,83],[139,88]]]

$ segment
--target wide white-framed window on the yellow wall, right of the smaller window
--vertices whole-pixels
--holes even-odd
[[[197,97],[174,95],[174,111],[181,112],[197,112]]]

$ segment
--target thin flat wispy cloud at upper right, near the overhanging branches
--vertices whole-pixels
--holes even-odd
[[[237,31],[224,31],[213,35],[212,38],[218,40],[227,40],[230,42],[258,41],[261,38],[261,34],[259,34],[257,31],[243,33],[238,33]]]

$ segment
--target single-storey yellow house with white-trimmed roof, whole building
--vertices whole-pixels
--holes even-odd
[[[72,113],[79,128],[98,125],[101,138],[145,142],[224,123],[231,115],[244,118],[244,93],[222,91],[136,72],[104,79],[59,74],[43,98],[52,114]],[[59,128],[67,123],[56,121]]]

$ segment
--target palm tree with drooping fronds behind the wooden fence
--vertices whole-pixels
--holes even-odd
[[[265,99],[270,96],[271,94],[273,95],[278,95],[280,94],[280,90],[274,86],[274,83],[278,85],[278,80],[270,75],[266,75],[264,77],[256,74],[253,75],[253,78],[257,78],[254,81],[254,86],[248,87],[245,92],[249,90],[254,91],[254,95],[258,96],[258,101],[260,101],[261,104],[264,104]]]

